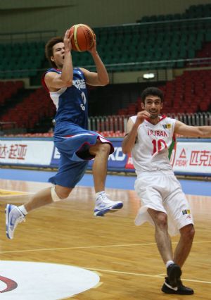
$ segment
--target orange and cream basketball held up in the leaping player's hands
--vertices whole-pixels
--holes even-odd
[[[87,51],[94,43],[94,31],[84,24],[77,24],[70,27],[70,35],[72,35],[72,49],[75,51]]]

